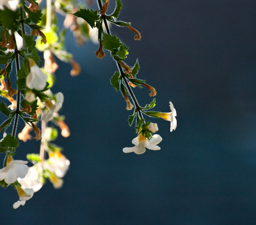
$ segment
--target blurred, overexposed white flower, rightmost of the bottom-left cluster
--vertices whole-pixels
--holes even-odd
[[[49,159],[46,167],[53,172],[57,177],[65,176],[69,169],[70,161],[60,152],[49,152]]]

